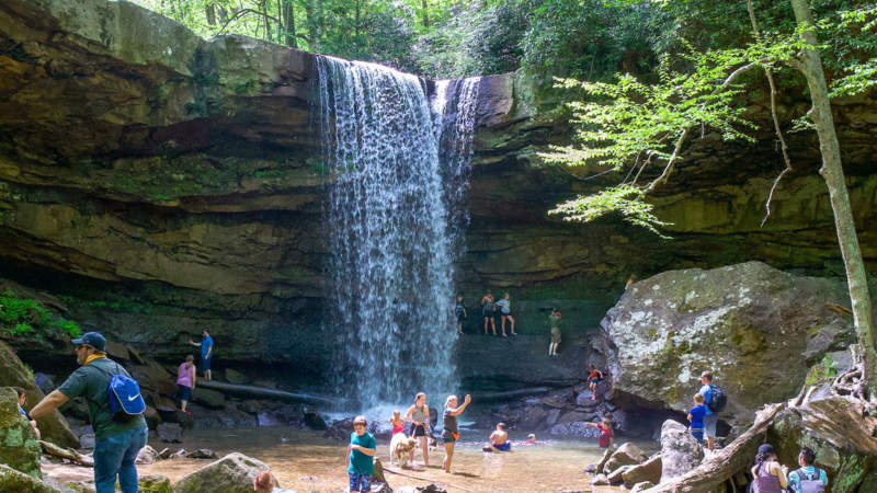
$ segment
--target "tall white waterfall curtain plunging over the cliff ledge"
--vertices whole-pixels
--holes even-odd
[[[459,160],[440,157],[447,105],[379,65],[318,57],[317,70],[337,389],[362,408],[421,390],[441,399],[457,386],[453,261],[467,181]]]

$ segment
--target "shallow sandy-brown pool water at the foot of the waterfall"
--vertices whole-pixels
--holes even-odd
[[[468,433],[476,438],[477,432]],[[486,438],[488,433],[478,435]],[[512,452],[486,454],[481,451],[483,442],[467,442],[466,438],[464,435],[463,442],[457,444],[451,474],[441,469],[444,448],[440,445],[430,451],[429,466],[423,466],[418,451],[413,468],[400,470],[394,467],[407,475],[388,473],[387,481],[394,488],[435,483],[454,492],[592,491],[588,484],[590,478],[583,469],[603,455],[595,440],[548,440],[538,445],[516,445],[513,440]],[[168,447],[157,439],[150,443],[157,450]],[[387,445],[388,440],[378,439],[377,457],[384,465],[389,463]],[[637,445],[646,447],[647,451],[654,449],[653,444]],[[271,467],[282,486],[299,493],[346,491],[346,444],[323,438],[319,432],[281,427],[189,431],[184,443],[172,447],[187,450],[210,448],[219,456],[239,451],[254,457]],[[161,473],[175,481],[207,462],[173,459],[143,466],[139,470],[141,473]],[[593,491],[620,490],[602,488]]]

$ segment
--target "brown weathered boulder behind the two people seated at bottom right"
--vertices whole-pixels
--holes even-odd
[[[862,401],[832,395],[782,411],[767,432],[783,463],[796,463],[801,447],[817,455],[817,467],[831,478],[831,491],[864,492],[877,474],[877,417]]]

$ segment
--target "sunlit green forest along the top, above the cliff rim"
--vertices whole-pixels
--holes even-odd
[[[745,46],[744,0],[135,0],[202,36],[235,33],[432,79],[533,76],[648,79],[661,56]],[[789,0],[754,2],[762,31],[789,33]],[[877,76],[877,3],[813,0],[827,71]],[[861,18],[861,23],[851,18]],[[870,61],[870,64],[868,64]],[[863,66],[864,64],[864,66]],[[863,72],[864,70],[864,72]]]

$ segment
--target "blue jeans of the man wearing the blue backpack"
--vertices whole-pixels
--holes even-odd
[[[115,493],[116,474],[122,493],[137,493],[134,459],[146,446],[149,429],[128,429],[94,443],[94,488],[98,493]]]

